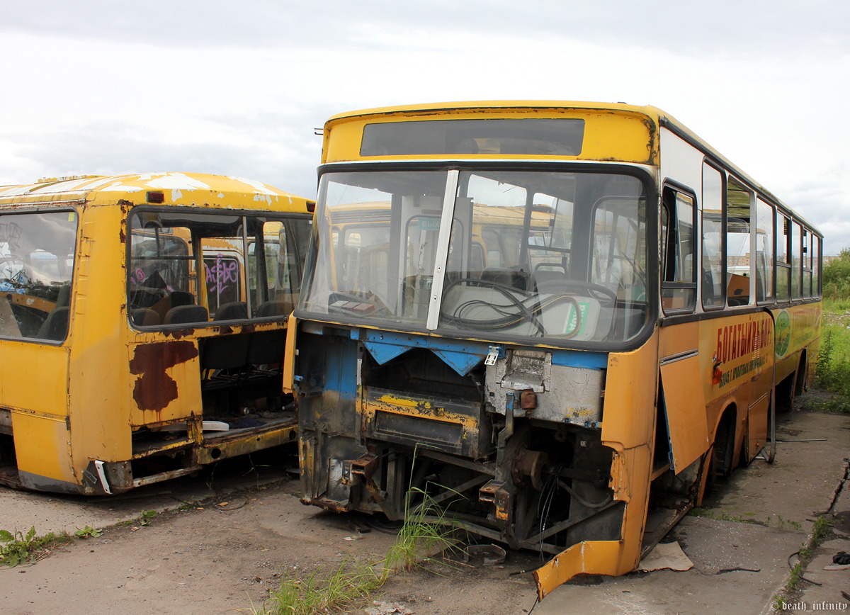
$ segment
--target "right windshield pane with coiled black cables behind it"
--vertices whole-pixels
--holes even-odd
[[[647,314],[645,215],[632,177],[462,173],[440,326],[484,339],[631,339]]]

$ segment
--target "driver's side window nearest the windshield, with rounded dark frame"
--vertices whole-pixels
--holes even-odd
[[[694,196],[666,186],[661,209],[661,305],[665,313],[694,310]]]

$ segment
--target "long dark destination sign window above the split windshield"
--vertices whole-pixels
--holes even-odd
[[[360,156],[578,156],[582,119],[432,120],[366,124]]]

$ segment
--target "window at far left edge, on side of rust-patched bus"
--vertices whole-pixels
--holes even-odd
[[[0,216],[0,336],[65,339],[77,214]]]

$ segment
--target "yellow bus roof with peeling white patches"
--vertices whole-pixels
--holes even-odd
[[[80,203],[135,204],[161,192],[168,205],[216,206],[240,209],[283,209],[308,213],[308,199],[253,179],[201,173],[82,175],[42,179],[36,184],[0,185],[0,205]]]

